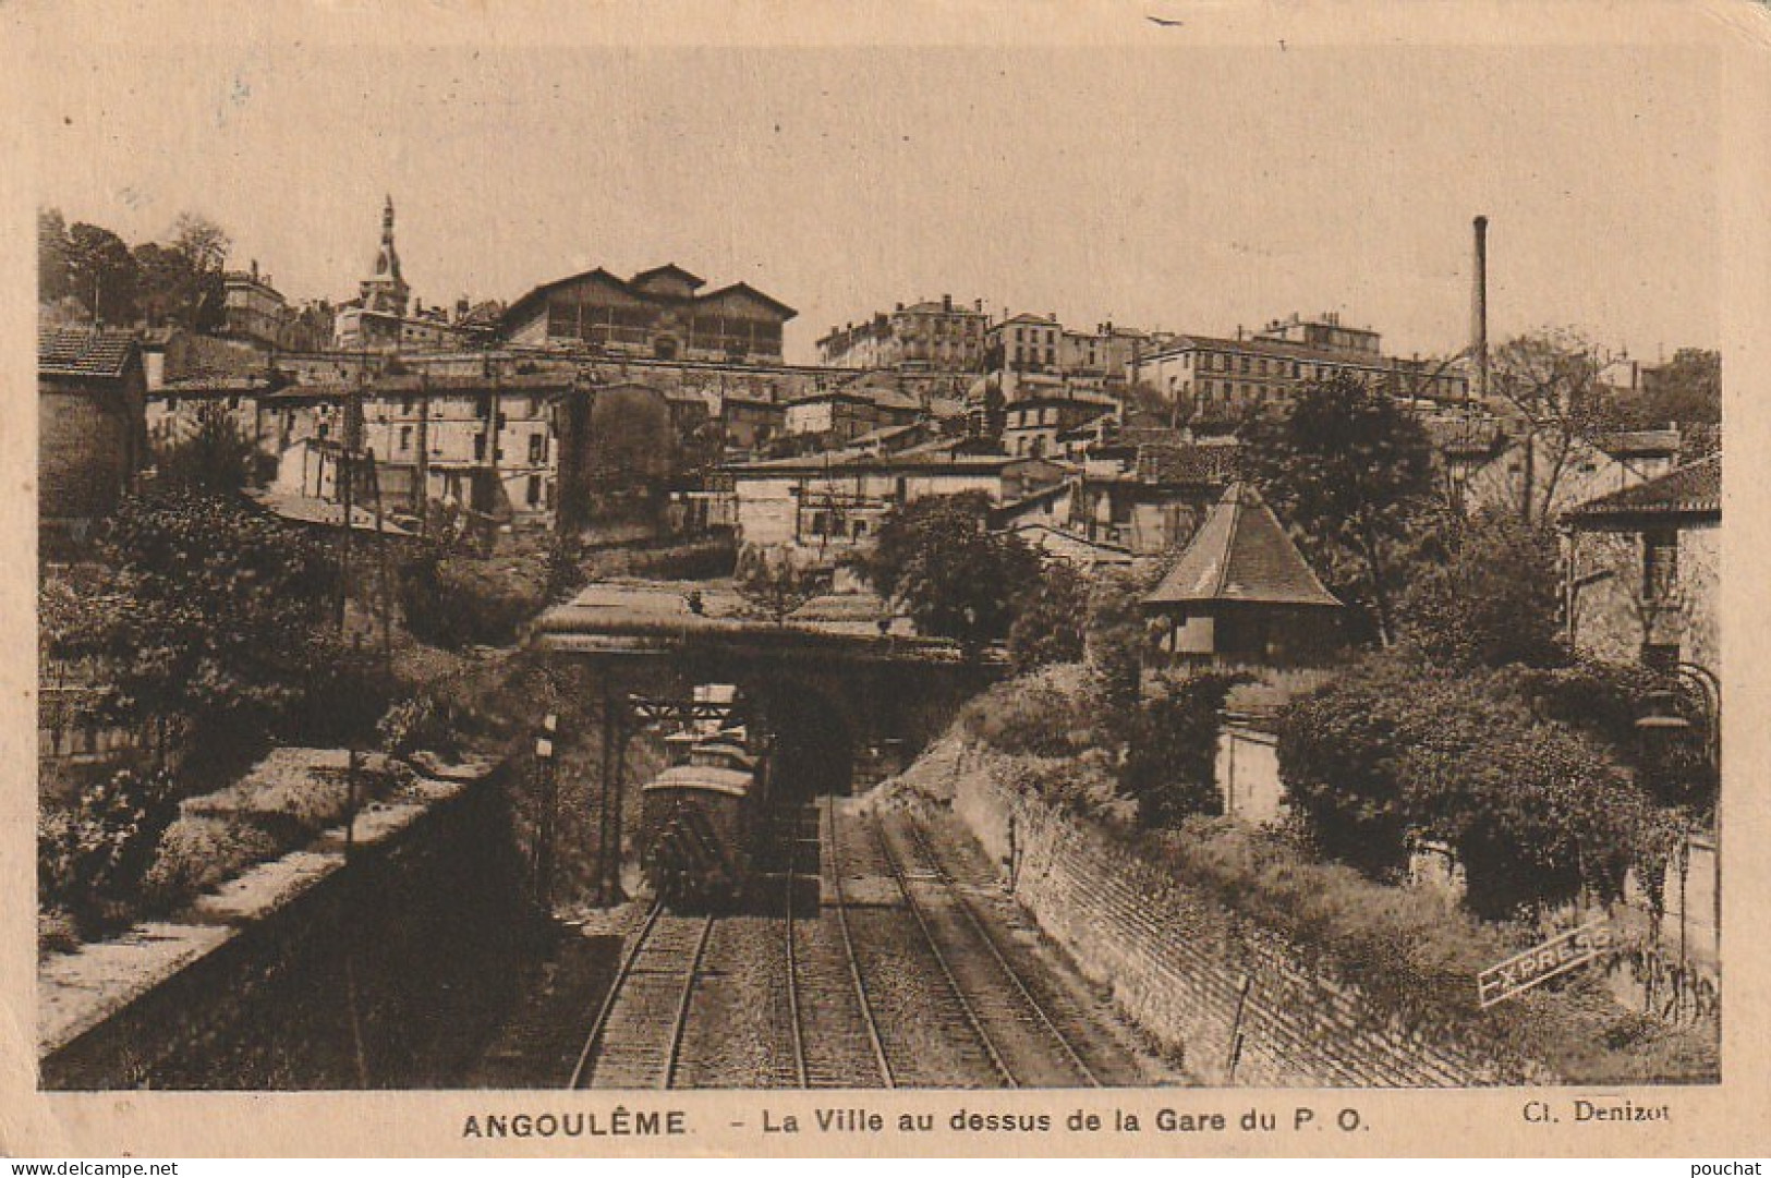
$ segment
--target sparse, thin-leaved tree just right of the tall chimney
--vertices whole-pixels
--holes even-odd
[[[1521,335],[1495,351],[1489,386],[1520,436],[1516,505],[1527,524],[1555,514],[1557,491],[1582,452],[1624,425],[1601,379],[1610,365],[1608,354],[1567,328]]]

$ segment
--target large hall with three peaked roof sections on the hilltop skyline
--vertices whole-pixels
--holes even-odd
[[[503,337],[519,347],[565,347],[659,360],[781,361],[792,306],[737,282],[707,294],[680,266],[632,278],[597,267],[542,283],[510,305]]]

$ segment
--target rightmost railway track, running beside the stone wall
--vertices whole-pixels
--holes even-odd
[[[930,957],[1002,1084],[1098,1088],[1094,1070],[1027,987],[916,822],[905,817],[893,824],[898,838],[887,825],[882,815],[873,827],[880,852]],[[909,845],[909,854],[894,845],[900,840]]]

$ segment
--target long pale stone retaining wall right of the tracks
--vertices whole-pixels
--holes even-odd
[[[1011,864],[1015,895],[1119,1006],[1208,1084],[1438,1088],[1544,1081],[1378,1008],[1272,930],[1172,880],[972,751],[953,808]]]

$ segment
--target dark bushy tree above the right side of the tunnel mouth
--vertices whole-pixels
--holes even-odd
[[[1040,576],[1040,556],[1020,537],[990,530],[990,500],[981,491],[894,507],[859,563],[921,632],[951,638],[967,652],[1008,636]]]

